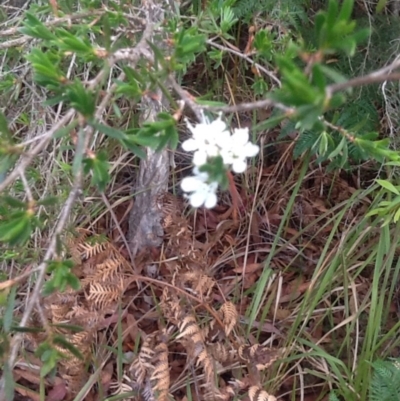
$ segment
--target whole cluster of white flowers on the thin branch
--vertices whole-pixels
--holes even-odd
[[[243,173],[247,167],[246,159],[259,152],[257,145],[249,142],[248,128],[235,128],[231,133],[227,125],[218,119],[210,122],[204,115],[203,121],[195,126],[187,121],[192,137],[182,143],[183,150],[194,152],[193,176],[181,182],[181,188],[189,193],[188,198],[193,207],[204,205],[211,209],[217,204],[217,182],[210,182],[209,175],[200,171],[210,158],[221,156],[226,167],[235,173]]]

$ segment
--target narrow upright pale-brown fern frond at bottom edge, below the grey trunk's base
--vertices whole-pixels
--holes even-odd
[[[155,367],[150,377],[152,390],[158,401],[167,401],[170,386],[167,344],[165,342],[159,343],[154,351]]]

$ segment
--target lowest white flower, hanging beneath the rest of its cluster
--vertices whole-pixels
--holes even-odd
[[[204,205],[207,209],[212,209],[217,204],[216,191],[217,182],[207,182],[209,177],[205,172],[200,172],[198,168],[193,169],[194,176],[186,177],[181,182],[181,188],[187,195],[193,207]]]

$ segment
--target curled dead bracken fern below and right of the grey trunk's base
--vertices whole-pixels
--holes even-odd
[[[233,400],[250,388],[249,397],[254,400],[274,400],[261,388],[254,387],[258,383],[252,382],[250,376],[254,376],[255,368],[257,372],[270,367],[282,351],[260,344],[250,345],[243,339],[237,344],[230,338],[239,323],[236,306],[226,300],[219,310],[211,307],[216,280],[208,274],[207,259],[201,245],[194,245],[192,228],[188,219],[183,217],[180,203],[168,196],[167,207],[160,208],[165,212],[165,256],[179,255],[178,261],[168,264],[172,273],[171,283],[176,289],[163,288],[159,308],[165,328],[145,337],[129,370],[134,382],[132,388],[140,389],[146,400],[166,400],[171,382],[168,350],[175,348],[186,355],[188,371],[196,372],[194,380],[198,382],[197,388],[202,390],[202,399]],[[198,305],[193,303],[193,298],[197,298],[200,304],[209,305],[212,316],[200,318],[194,309]],[[169,336],[165,334],[167,327]],[[242,382],[226,383],[221,387],[219,371],[229,370],[230,366],[247,368],[248,376],[246,378],[245,374]]]

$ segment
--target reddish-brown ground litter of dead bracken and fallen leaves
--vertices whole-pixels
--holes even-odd
[[[281,151],[287,154],[287,149]],[[81,289],[43,299],[48,329],[26,336],[33,344],[28,344],[28,354],[35,344],[55,334],[65,336],[78,349],[82,358],[57,345],[65,356],[57,377],[69,399],[87,382],[92,366],[108,361],[111,373],[104,373],[102,394],[133,392],[136,395],[129,399],[164,401],[185,400],[189,391],[196,400],[228,401],[245,395],[249,400],[284,400],[279,394],[293,385],[291,376],[281,389],[273,388],[274,394],[266,391],[266,377],[275,362],[278,367],[279,361],[293,352],[285,347],[282,333],[294,319],[296,299],[312,285],[317,255],[332,230],[329,218],[333,210],[343,207],[345,195],[349,198],[355,190],[351,179],[321,175],[318,170],[308,174],[272,260],[271,267],[283,272],[284,284],[279,299],[275,284],[268,287],[266,299],[277,307],[266,311],[267,320],[261,321],[260,316],[260,321],[253,323],[252,329],[261,333],[257,341],[246,334],[243,316],[252,295],[241,291],[251,288],[262,274],[262,262],[289,200],[286,186],[291,183],[287,178],[286,186],[280,183],[292,168],[283,159],[264,166],[260,200],[252,214],[246,212],[252,208],[252,195],[249,190],[239,192],[238,222],[231,218],[229,202],[190,214],[185,212],[184,200],[170,193],[160,196],[156,204],[162,214],[163,243],[139,252],[133,264],[115,235],[111,239],[93,230],[77,229],[68,239],[68,250]],[[294,183],[296,174],[291,179]],[[366,202],[355,203],[347,211],[332,249],[340,241],[340,233],[356,224]],[[125,211],[125,207],[116,210],[117,217],[123,219]],[[110,228],[105,225],[99,222],[98,231]],[[299,249],[301,261],[297,259]],[[286,269],[288,264],[297,272]],[[42,325],[37,312],[33,327]],[[340,314],[335,316],[339,321]],[[73,333],[66,324],[81,326],[83,331]],[[118,361],[98,348],[116,347],[117,325],[122,328],[123,354],[134,355],[118,375]],[[313,338],[325,334],[317,321],[310,325]],[[329,349],[329,337],[325,341]],[[40,361],[35,362],[40,366]],[[28,380],[28,373],[23,375]],[[56,388],[56,383],[49,383],[51,386]],[[96,400],[100,393],[92,387],[87,399]]]

